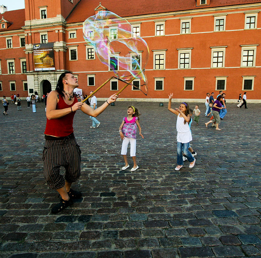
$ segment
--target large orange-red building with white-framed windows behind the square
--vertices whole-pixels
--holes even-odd
[[[127,87],[121,98],[151,101],[173,92],[176,99],[205,99],[206,92],[224,90],[227,99],[247,91],[248,102],[259,101],[260,0],[99,1],[29,0],[25,9],[2,13],[0,95],[43,94],[55,89],[64,70],[78,76],[84,94],[113,76],[82,31],[88,17],[109,10],[125,17],[150,49],[148,96]],[[33,44],[47,42],[53,42],[55,70],[35,71]],[[96,96],[105,98],[123,85],[113,79]]]

